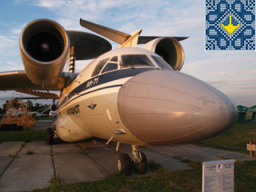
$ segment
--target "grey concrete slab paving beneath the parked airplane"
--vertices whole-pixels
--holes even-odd
[[[48,127],[48,126],[47,126]],[[24,146],[25,145],[25,146]],[[45,142],[3,142],[0,144],[0,191],[27,191],[50,186],[57,177],[62,184],[91,182],[116,173],[118,153],[115,143],[61,143],[47,146]],[[141,149],[148,160],[160,163],[165,170],[190,167],[180,159],[210,161],[223,158],[250,160],[249,155],[194,145],[159,146]],[[131,153],[131,147],[121,144],[119,153]],[[149,170],[147,174],[154,174]],[[130,177],[138,174],[132,173]]]

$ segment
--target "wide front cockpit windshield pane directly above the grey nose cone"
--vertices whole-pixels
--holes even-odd
[[[127,66],[154,66],[146,54],[124,54],[122,58],[122,67]]]

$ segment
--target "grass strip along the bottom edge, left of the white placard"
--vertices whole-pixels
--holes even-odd
[[[196,174],[197,170],[190,171],[192,174]],[[201,183],[194,180],[196,183],[192,185],[191,182],[186,182],[182,178],[178,178],[178,175],[185,176],[186,171],[179,172],[179,174],[173,172],[154,174],[152,176],[138,177],[138,178],[126,178],[122,175],[118,177],[109,178],[97,182],[84,182],[73,185],[59,186],[54,190],[50,188],[45,190],[34,191],[119,191],[124,188],[134,191],[199,191]],[[197,174],[200,175],[199,173]],[[194,177],[193,177],[194,178]]]

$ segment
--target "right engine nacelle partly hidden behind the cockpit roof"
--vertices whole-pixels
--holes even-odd
[[[182,69],[184,50],[175,38],[156,38],[142,47],[162,56],[174,70]]]

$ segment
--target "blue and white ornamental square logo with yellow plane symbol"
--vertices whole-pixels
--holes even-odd
[[[255,0],[206,0],[206,50],[255,50]]]

